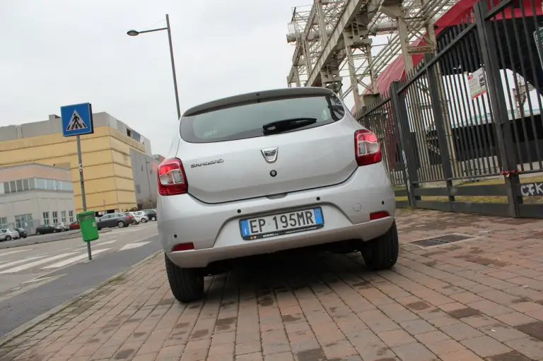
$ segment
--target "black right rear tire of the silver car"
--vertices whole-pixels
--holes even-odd
[[[398,260],[399,242],[396,222],[384,235],[368,241],[362,251],[366,266],[373,271],[392,268]]]

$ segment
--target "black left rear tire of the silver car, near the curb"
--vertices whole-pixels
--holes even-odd
[[[204,295],[204,276],[194,268],[180,268],[164,254],[166,273],[173,297],[179,302],[197,301]]]

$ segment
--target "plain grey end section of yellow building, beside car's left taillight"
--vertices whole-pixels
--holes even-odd
[[[153,169],[153,164],[156,163],[155,160],[133,149],[130,150],[130,160],[132,162],[136,203],[138,203],[138,206],[149,201],[156,204],[158,185],[156,171]]]

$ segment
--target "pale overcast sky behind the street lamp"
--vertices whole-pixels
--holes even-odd
[[[170,14],[181,112],[201,102],[283,88],[293,6],[311,0],[0,0],[0,126],[91,102],[166,153],[177,131],[165,26]]]

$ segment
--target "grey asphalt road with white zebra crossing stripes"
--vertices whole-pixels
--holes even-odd
[[[160,250],[156,223],[81,239],[0,249],[0,336]]]

